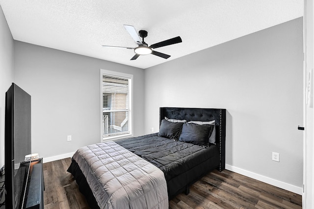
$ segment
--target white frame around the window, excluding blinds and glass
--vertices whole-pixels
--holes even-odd
[[[129,79],[129,92],[130,92],[129,93],[130,94],[130,98],[129,98],[129,104],[130,104],[130,107],[129,107],[129,121],[130,121],[129,130],[130,130],[130,132],[129,133],[103,137],[103,75]],[[133,106],[133,75],[100,69],[100,110],[101,110],[100,111],[100,132],[101,132],[101,140],[100,141],[101,142],[112,141],[112,140],[117,140],[117,139],[122,139],[122,138],[129,138],[129,137],[133,136],[132,106]]]

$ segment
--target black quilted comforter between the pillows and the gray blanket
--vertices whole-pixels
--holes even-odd
[[[115,142],[163,171],[170,198],[219,166],[219,150],[215,145],[204,148],[159,137],[157,133]]]

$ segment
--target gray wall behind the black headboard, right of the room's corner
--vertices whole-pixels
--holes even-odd
[[[146,69],[145,133],[160,106],[226,108],[229,169],[301,187],[302,37],[299,18]]]

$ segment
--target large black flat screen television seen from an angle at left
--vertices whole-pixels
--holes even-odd
[[[31,154],[30,95],[15,83],[5,93],[5,208],[24,209]],[[21,163],[23,162],[23,163]]]

